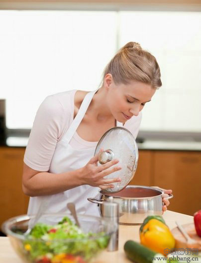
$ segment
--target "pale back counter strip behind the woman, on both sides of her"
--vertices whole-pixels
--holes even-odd
[[[7,129],[0,146],[26,147],[30,129]],[[201,151],[200,132],[143,131],[136,138],[140,150]]]

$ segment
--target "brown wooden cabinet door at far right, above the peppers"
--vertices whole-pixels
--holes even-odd
[[[156,151],[154,185],[172,189],[169,210],[193,214],[201,209],[201,153]]]

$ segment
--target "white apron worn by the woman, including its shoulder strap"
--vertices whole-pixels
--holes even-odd
[[[71,126],[63,138],[57,143],[50,164],[50,173],[60,174],[77,170],[84,167],[94,156],[96,147],[76,150],[71,147],[69,142],[85,116],[96,92],[97,90],[87,93]],[[116,122],[116,124],[117,126],[122,126],[120,122]],[[98,187],[82,185],[55,195],[31,197],[27,214],[36,214],[41,201],[44,200],[48,202],[45,213],[66,213],[67,203],[74,202],[76,204],[76,211],[79,214],[100,216],[98,206],[87,200],[89,197],[98,197],[100,190]]]

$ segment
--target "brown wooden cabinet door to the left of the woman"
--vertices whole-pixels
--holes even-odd
[[[22,192],[25,148],[0,147],[0,224],[26,214],[28,197]]]

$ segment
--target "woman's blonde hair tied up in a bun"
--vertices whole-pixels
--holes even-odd
[[[156,89],[162,85],[156,58],[136,42],[128,42],[119,49],[105,67],[103,79],[108,73],[115,84],[128,84],[130,80],[137,80]]]

